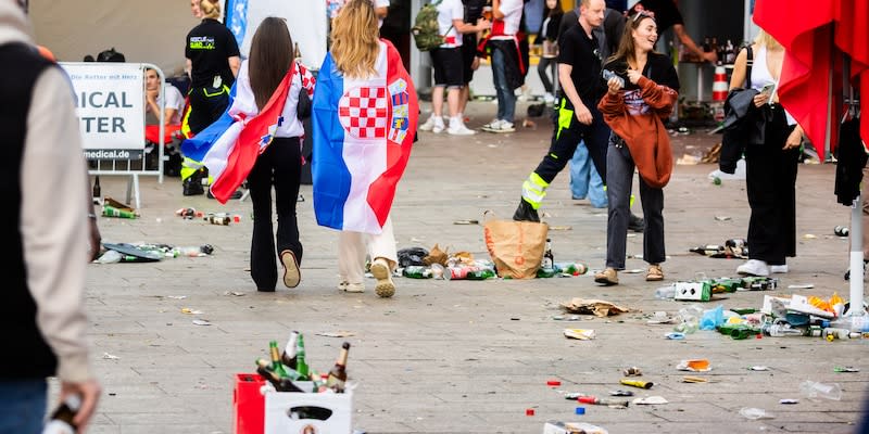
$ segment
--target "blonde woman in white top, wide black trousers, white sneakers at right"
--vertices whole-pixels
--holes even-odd
[[[754,61],[748,66],[748,60]],[[788,272],[785,257],[796,255],[796,164],[803,128],[779,104],[776,89],[784,48],[766,31],[736,56],[730,88],[753,89],[754,106],[746,115],[757,125],[745,144],[745,186],[748,220],[748,261],[740,275]]]

